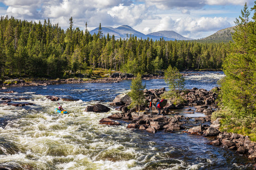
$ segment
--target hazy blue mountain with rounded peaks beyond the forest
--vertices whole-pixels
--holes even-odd
[[[160,40],[160,38],[163,38],[166,41],[174,41],[176,40],[192,40],[190,38],[186,38],[183,37],[181,34],[178,34],[177,32],[174,31],[160,31],[160,32],[152,32],[150,34],[145,35],[144,33],[138,32],[136,30],[134,30],[132,27],[128,26],[128,25],[122,25],[120,27],[117,28],[112,28],[112,27],[101,27],[102,29],[102,33],[103,35],[107,36],[107,34],[109,33],[110,36],[115,35],[116,39],[119,38],[124,38],[126,39],[127,35],[128,38],[130,37],[130,35],[134,35],[137,38],[142,38],[142,39],[152,39],[152,40]],[[91,34],[94,33],[98,33],[98,28],[90,31]]]

